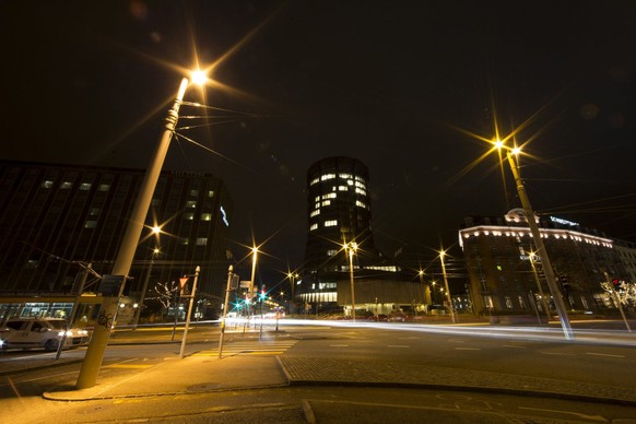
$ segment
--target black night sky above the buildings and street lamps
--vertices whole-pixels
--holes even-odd
[[[217,62],[186,94],[214,125],[179,131],[207,149],[179,137],[164,169],[227,184],[232,248],[267,240],[263,272],[301,266],[327,156],[368,166],[387,256],[433,257],[463,216],[518,207],[496,153],[470,166],[495,121],[522,126],[535,211],[636,242],[635,1],[20,0],[0,32],[9,160],[143,168],[179,69]]]

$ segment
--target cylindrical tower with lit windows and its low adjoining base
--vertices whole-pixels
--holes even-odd
[[[327,157],[307,172],[307,249],[296,298],[306,310],[356,309],[388,314],[424,304],[425,288],[375,247],[369,173],[352,157]],[[353,267],[344,245],[355,243]]]

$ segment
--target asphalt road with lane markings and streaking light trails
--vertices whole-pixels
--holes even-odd
[[[338,361],[391,361],[419,365],[478,369],[515,376],[562,378],[572,381],[634,386],[634,344],[616,343],[614,333],[593,332],[580,342],[564,342],[558,331],[500,329],[481,333],[466,328],[422,331],[411,326],[281,326],[280,337],[293,339],[288,357]],[[272,327],[264,328],[266,332]],[[118,331],[101,370],[123,375],[178,355],[180,333],[169,329]],[[479,335],[469,335],[475,334]],[[582,335],[582,334],[581,334]],[[606,335],[606,337],[604,337]],[[612,337],[610,337],[612,335]],[[634,340],[634,339],[632,339]],[[143,344],[144,342],[154,344]],[[157,341],[160,341],[157,343]],[[190,329],[187,352],[217,349],[219,328]],[[114,344],[121,343],[121,344]],[[251,353],[260,345],[258,333],[249,341]],[[233,349],[232,341],[226,344]],[[242,352],[248,350],[243,346]],[[62,355],[81,358],[84,350]],[[262,353],[262,352],[261,352]],[[4,361],[34,357],[42,352],[9,352]],[[429,390],[399,387],[308,386],[227,390],[177,397],[111,399],[89,402],[51,402],[40,394],[72,387],[80,364],[32,370],[2,377],[0,405],[8,422],[219,422],[219,423],[387,423],[387,422],[635,422],[636,409],[605,402],[577,402],[493,392]],[[141,368],[142,369],[142,368]],[[157,381],[161,385],[161,381]]]

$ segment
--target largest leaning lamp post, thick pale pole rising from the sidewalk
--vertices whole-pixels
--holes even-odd
[[[193,73],[191,76],[193,81],[200,81],[199,79],[201,74]],[[167,113],[164,131],[160,138],[154,155],[150,161],[143,182],[141,184],[139,197],[137,198],[137,202],[130,214],[128,226],[126,227],[111,271],[111,275],[121,276],[123,283],[121,283],[117,296],[104,297],[102,310],[97,317],[97,325],[93,330],[86,355],[84,356],[82,367],[80,368],[80,375],[78,376],[78,382],[75,385],[76,389],[86,389],[96,384],[97,375],[104,360],[104,352],[106,351],[108,338],[110,337],[113,316],[117,311],[119,297],[121,297],[123,286],[126,285],[126,279],[130,272],[134,251],[143,229],[143,223],[152,201],[152,195],[154,193],[163,163],[168,152],[170,140],[179,119],[179,108],[184,102],[184,95],[186,94],[186,89],[189,84],[190,80],[188,78],[181,80],[175,102]]]

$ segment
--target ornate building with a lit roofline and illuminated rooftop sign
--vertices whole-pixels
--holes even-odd
[[[601,282],[627,278],[614,242],[594,229],[556,216],[541,216],[539,229],[569,310],[612,307]],[[470,216],[459,231],[475,313],[543,310],[553,302],[522,210],[505,216]]]

